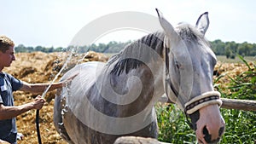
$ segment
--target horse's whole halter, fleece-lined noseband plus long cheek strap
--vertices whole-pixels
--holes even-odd
[[[175,98],[173,98],[173,96],[171,97],[171,95],[168,95],[168,93],[166,93],[166,95],[169,97],[169,99],[171,99],[171,101],[173,103],[177,103],[177,96],[179,95],[177,89],[174,88],[172,81],[171,81],[171,77],[169,75],[169,57],[168,57],[168,47],[169,47],[169,43],[166,42],[166,37],[165,37],[165,59],[166,59],[166,84],[168,84],[171,88],[172,93],[175,95]],[[165,86],[165,90],[166,92],[168,91],[168,88]],[[214,105],[214,104],[218,104],[218,106],[220,107],[222,105],[222,101],[220,100],[220,93],[218,91],[208,91],[206,93],[203,93],[201,95],[195,96],[195,98],[189,100],[188,102],[185,103],[184,105],[184,112],[186,114],[186,117],[188,119],[188,115],[192,114],[194,112],[196,112],[197,110],[201,109],[202,107],[207,107],[209,105]]]

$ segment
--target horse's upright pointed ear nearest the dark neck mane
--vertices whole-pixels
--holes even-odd
[[[178,36],[178,34],[174,30],[173,26],[163,17],[163,14],[160,12],[159,9],[155,9],[155,10],[158,14],[160,25],[164,29],[166,36],[172,40],[172,43],[179,42],[179,40],[181,40],[181,38]]]

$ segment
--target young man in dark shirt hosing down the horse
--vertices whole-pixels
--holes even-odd
[[[44,106],[44,99],[38,95],[34,101],[14,106],[13,91],[22,90],[38,94],[43,93],[49,84],[28,84],[2,72],[3,68],[9,67],[13,60],[15,60],[15,43],[9,37],[0,36],[0,143],[15,144],[17,137],[15,118],[29,110],[41,109]],[[74,77],[52,84],[49,91],[61,88]]]

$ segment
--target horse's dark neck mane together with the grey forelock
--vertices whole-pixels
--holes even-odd
[[[181,24],[177,26],[177,33],[185,42],[187,42],[188,45],[194,42],[202,42],[207,43],[207,45],[210,46],[207,39],[195,28],[195,26]],[[154,56],[152,56],[150,50],[142,49],[145,47],[154,49],[156,53],[160,55],[160,57],[163,57],[162,51],[164,49],[164,37],[164,32],[154,32],[125,46],[125,49],[121,50],[119,54],[113,55],[113,57],[108,60],[108,64],[112,64],[118,60],[118,62],[115,63],[111,73],[116,75],[119,75],[122,72],[128,73],[132,69],[142,66],[143,63],[154,60]],[[143,58],[143,60],[137,60],[134,59],[134,57]]]

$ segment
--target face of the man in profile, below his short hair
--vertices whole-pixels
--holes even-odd
[[[15,60],[14,47],[10,46],[5,53],[0,51],[0,70],[2,70],[4,67],[9,67],[13,60]]]

